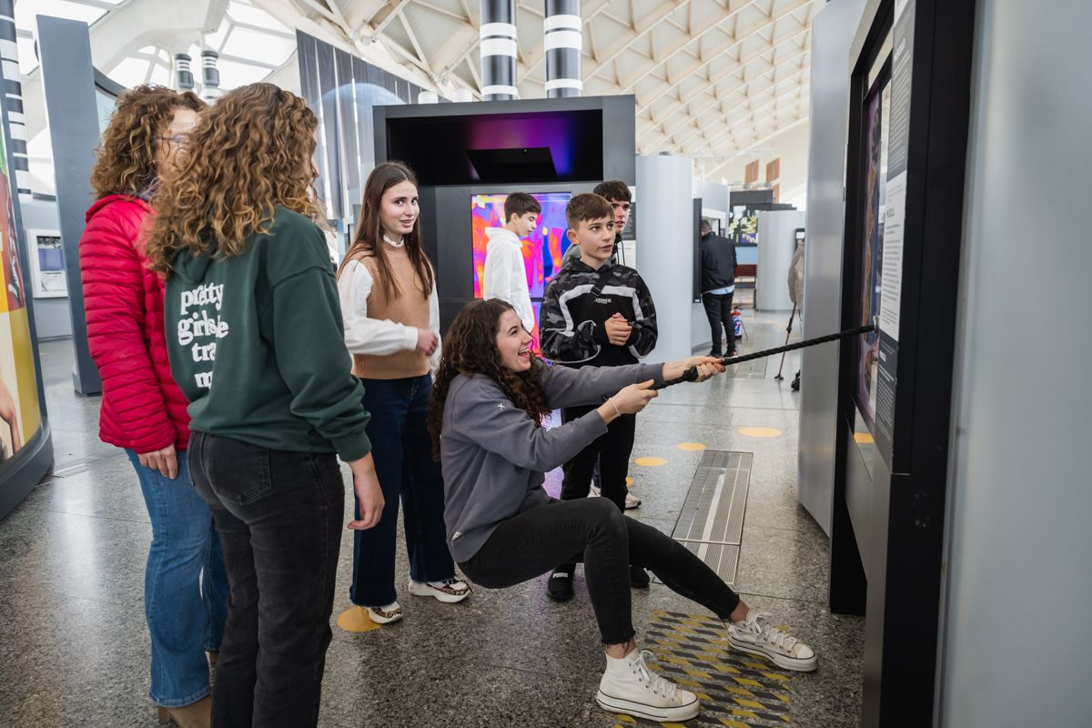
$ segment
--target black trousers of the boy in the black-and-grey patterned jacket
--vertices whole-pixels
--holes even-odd
[[[593,409],[594,406],[566,407],[561,410],[561,421],[580,419]],[[591,489],[592,473],[598,463],[598,485],[603,498],[617,505],[619,511],[625,511],[626,475],[629,472],[629,456],[633,452],[636,432],[637,415],[622,415],[607,425],[606,434],[590,442],[562,466],[565,479],[561,481],[561,500],[586,498]]]

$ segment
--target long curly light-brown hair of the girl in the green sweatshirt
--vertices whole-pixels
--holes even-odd
[[[304,99],[270,83],[228,92],[202,114],[181,168],[152,199],[152,270],[169,276],[183,248],[242,254],[250,236],[270,231],[278,206],[320,223],[311,183],[318,123]]]

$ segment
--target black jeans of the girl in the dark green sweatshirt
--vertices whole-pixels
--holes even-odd
[[[194,432],[189,466],[232,587],[213,728],[316,726],[344,528],[337,460]]]

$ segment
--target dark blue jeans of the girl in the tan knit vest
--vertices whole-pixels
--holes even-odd
[[[394,541],[400,499],[411,578],[449,578],[455,575],[455,564],[443,524],[443,475],[432,460],[432,440],[426,427],[431,375],[361,381],[364,408],[371,414],[371,456],[385,504],[373,528],[354,532],[349,599],[361,607],[382,607],[397,599]],[[360,517],[359,505],[356,517]]]

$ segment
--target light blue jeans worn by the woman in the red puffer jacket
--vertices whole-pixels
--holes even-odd
[[[186,453],[171,480],[126,450],[147,515],[152,548],[144,571],[144,617],[152,635],[152,689],[156,705],[178,707],[210,693],[205,651],[217,652],[227,619],[227,572],[212,512],[193,489]]]

